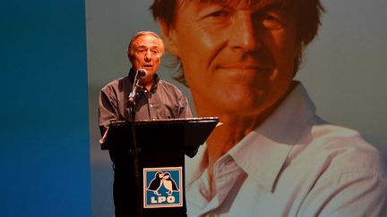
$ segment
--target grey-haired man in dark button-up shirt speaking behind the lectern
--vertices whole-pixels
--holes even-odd
[[[174,85],[159,79],[157,71],[164,54],[164,44],[156,33],[138,32],[130,41],[127,54],[132,63],[128,75],[111,81],[100,91],[99,129],[102,135],[112,121],[132,121],[132,108],[135,110],[135,121],[192,117],[185,95]],[[128,176],[129,172],[133,172],[133,165],[128,159],[132,156],[125,152],[110,152],[115,170],[113,195],[116,217],[133,216],[136,212],[136,201],[128,201],[131,196],[135,198],[136,190],[127,188],[135,186],[135,180]]]

